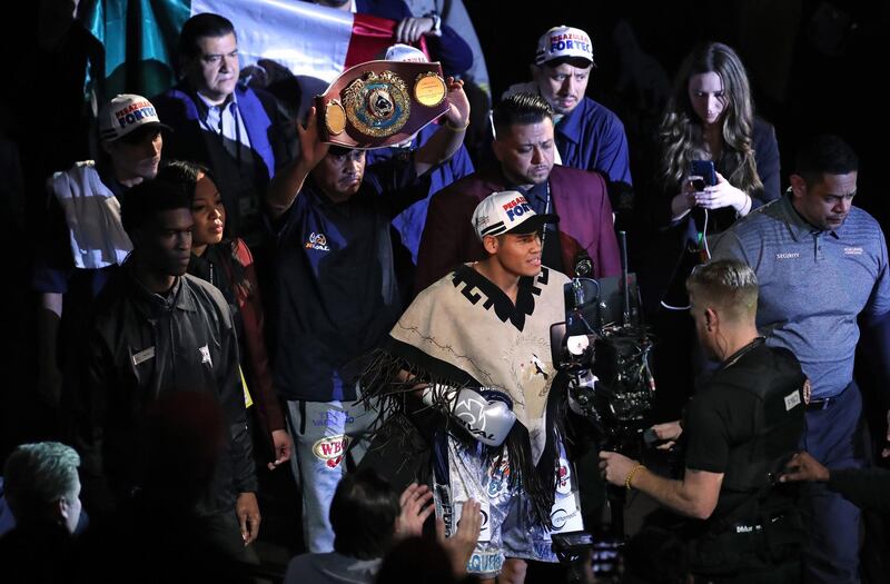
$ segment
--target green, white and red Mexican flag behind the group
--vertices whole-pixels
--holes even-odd
[[[235,24],[243,72],[265,71],[273,61],[324,83],[379,58],[396,27],[300,0],[96,0],[81,18],[105,47],[105,78],[90,80],[100,99],[125,92],[151,97],[172,86],[179,30],[201,12]]]

